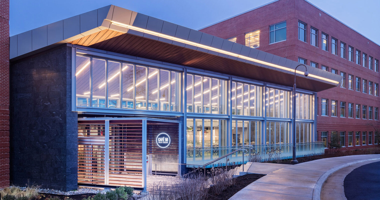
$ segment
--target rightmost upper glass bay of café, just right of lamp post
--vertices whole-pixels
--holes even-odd
[[[296,119],[314,119],[314,95],[296,93]]]

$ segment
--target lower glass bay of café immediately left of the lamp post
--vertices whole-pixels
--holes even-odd
[[[290,141],[289,122],[266,122],[266,143],[284,144]]]

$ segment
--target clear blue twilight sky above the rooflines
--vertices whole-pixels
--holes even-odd
[[[10,35],[16,35],[106,5],[200,29],[273,0],[11,0]],[[380,44],[379,0],[309,0]]]

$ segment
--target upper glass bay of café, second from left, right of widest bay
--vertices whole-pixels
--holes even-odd
[[[228,81],[192,74],[186,80],[188,113],[227,114]]]

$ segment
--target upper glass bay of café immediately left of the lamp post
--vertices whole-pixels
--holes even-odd
[[[266,88],[266,116],[290,118],[290,91]]]

